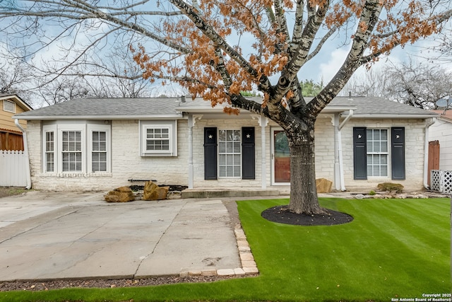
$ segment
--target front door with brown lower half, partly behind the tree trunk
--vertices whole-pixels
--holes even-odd
[[[272,185],[290,185],[289,141],[282,129],[272,129]]]

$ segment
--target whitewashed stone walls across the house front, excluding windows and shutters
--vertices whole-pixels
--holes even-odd
[[[347,122],[342,130],[345,186],[374,187],[379,182],[391,182],[388,178],[353,180],[353,127],[387,128],[393,125],[405,127],[405,167],[407,180],[394,181],[407,188],[418,190],[423,182],[424,121],[423,120],[355,120]],[[186,120],[178,122],[177,157],[142,157],[138,153],[138,120],[112,121],[112,173],[85,173],[85,175],[52,175],[42,173],[42,127],[39,121],[28,122],[28,147],[32,187],[38,190],[110,190],[131,185],[129,179],[156,179],[158,184],[188,184],[188,126]],[[241,129],[255,127],[256,178],[219,178],[204,180],[203,128]],[[271,183],[270,139],[271,129],[278,127],[270,122],[266,127],[266,185]],[[194,187],[261,187],[261,127],[257,120],[227,117],[222,120],[196,120],[193,129]],[[389,158],[391,161],[391,158]],[[316,177],[334,181],[334,136],[331,117],[322,116],[316,122]],[[333,187],[335,185],[333,184]]]

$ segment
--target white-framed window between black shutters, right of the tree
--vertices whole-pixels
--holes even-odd
[[[367,176],[388,176],[388,129],[367,129]]]

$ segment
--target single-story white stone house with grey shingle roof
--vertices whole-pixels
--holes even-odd
[[[336,98],[316,122],[316,177],[336,190],[425,182],[437,115],[381,98]],[[191,188],[290,185],[287,139],[266,117],[203,100],[78,99],[27,120],[32,187],[111,190],[131,180]]]

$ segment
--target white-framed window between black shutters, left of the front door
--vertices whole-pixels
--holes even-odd
[[[240,130],[218,131],[218,177],[242,176],[242,135]]]

